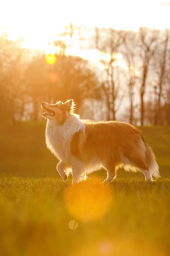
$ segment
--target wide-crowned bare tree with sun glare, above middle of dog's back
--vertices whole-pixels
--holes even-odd
[[[106,97],[106,105],[108,108],[107,119],[116,119],[116,112],[119,109],[119,103],[122,102],[123,94],[120,96],[120,77],[119,68],[116,67],[116,54],[123,44],[125,33],[117,31],[113,28],[99,29],[95,27],[95,47],[101,52],[100,62],[105,70],[105,78],[102,81],[102,90]],[[104,56],[108,55],[109,59],[105,60]],[[120,97],[119,97],[120,96]],[[119,99],[119,103],[117,103]],[[112,116],[111,116],[112,114]]]

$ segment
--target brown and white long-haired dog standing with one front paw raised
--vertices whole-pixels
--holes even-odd
[[[59,160],[57,171],[64,181],[70,172],[73,183],[77,183],[102,167],[107,170],[104,182],[112,182],[119,167],[143,172],[146,180],[159,177],[153,150],[135,126],[80,119],[74,113],[73,99],[56,104],[42,102],[41,107],[47,119],[46,145]]]

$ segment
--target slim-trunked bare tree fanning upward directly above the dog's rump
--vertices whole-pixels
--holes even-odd
[[[150,63],[158,46],[159,31],[156,29],[139,29],[139,57],[142,61],[141,82],[140,82],[140,99],[141,99],[141,125],[144,124],[144,95],[146,91],[147,76]]]

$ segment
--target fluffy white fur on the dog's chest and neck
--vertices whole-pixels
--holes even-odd
[[[50,151],[65,164],[71,161],[71,140],[73,135],[84,128],[77,116],[71,116],[63,125],[57,125],[54,120],[48,119],[46,126],[46,144]]]

